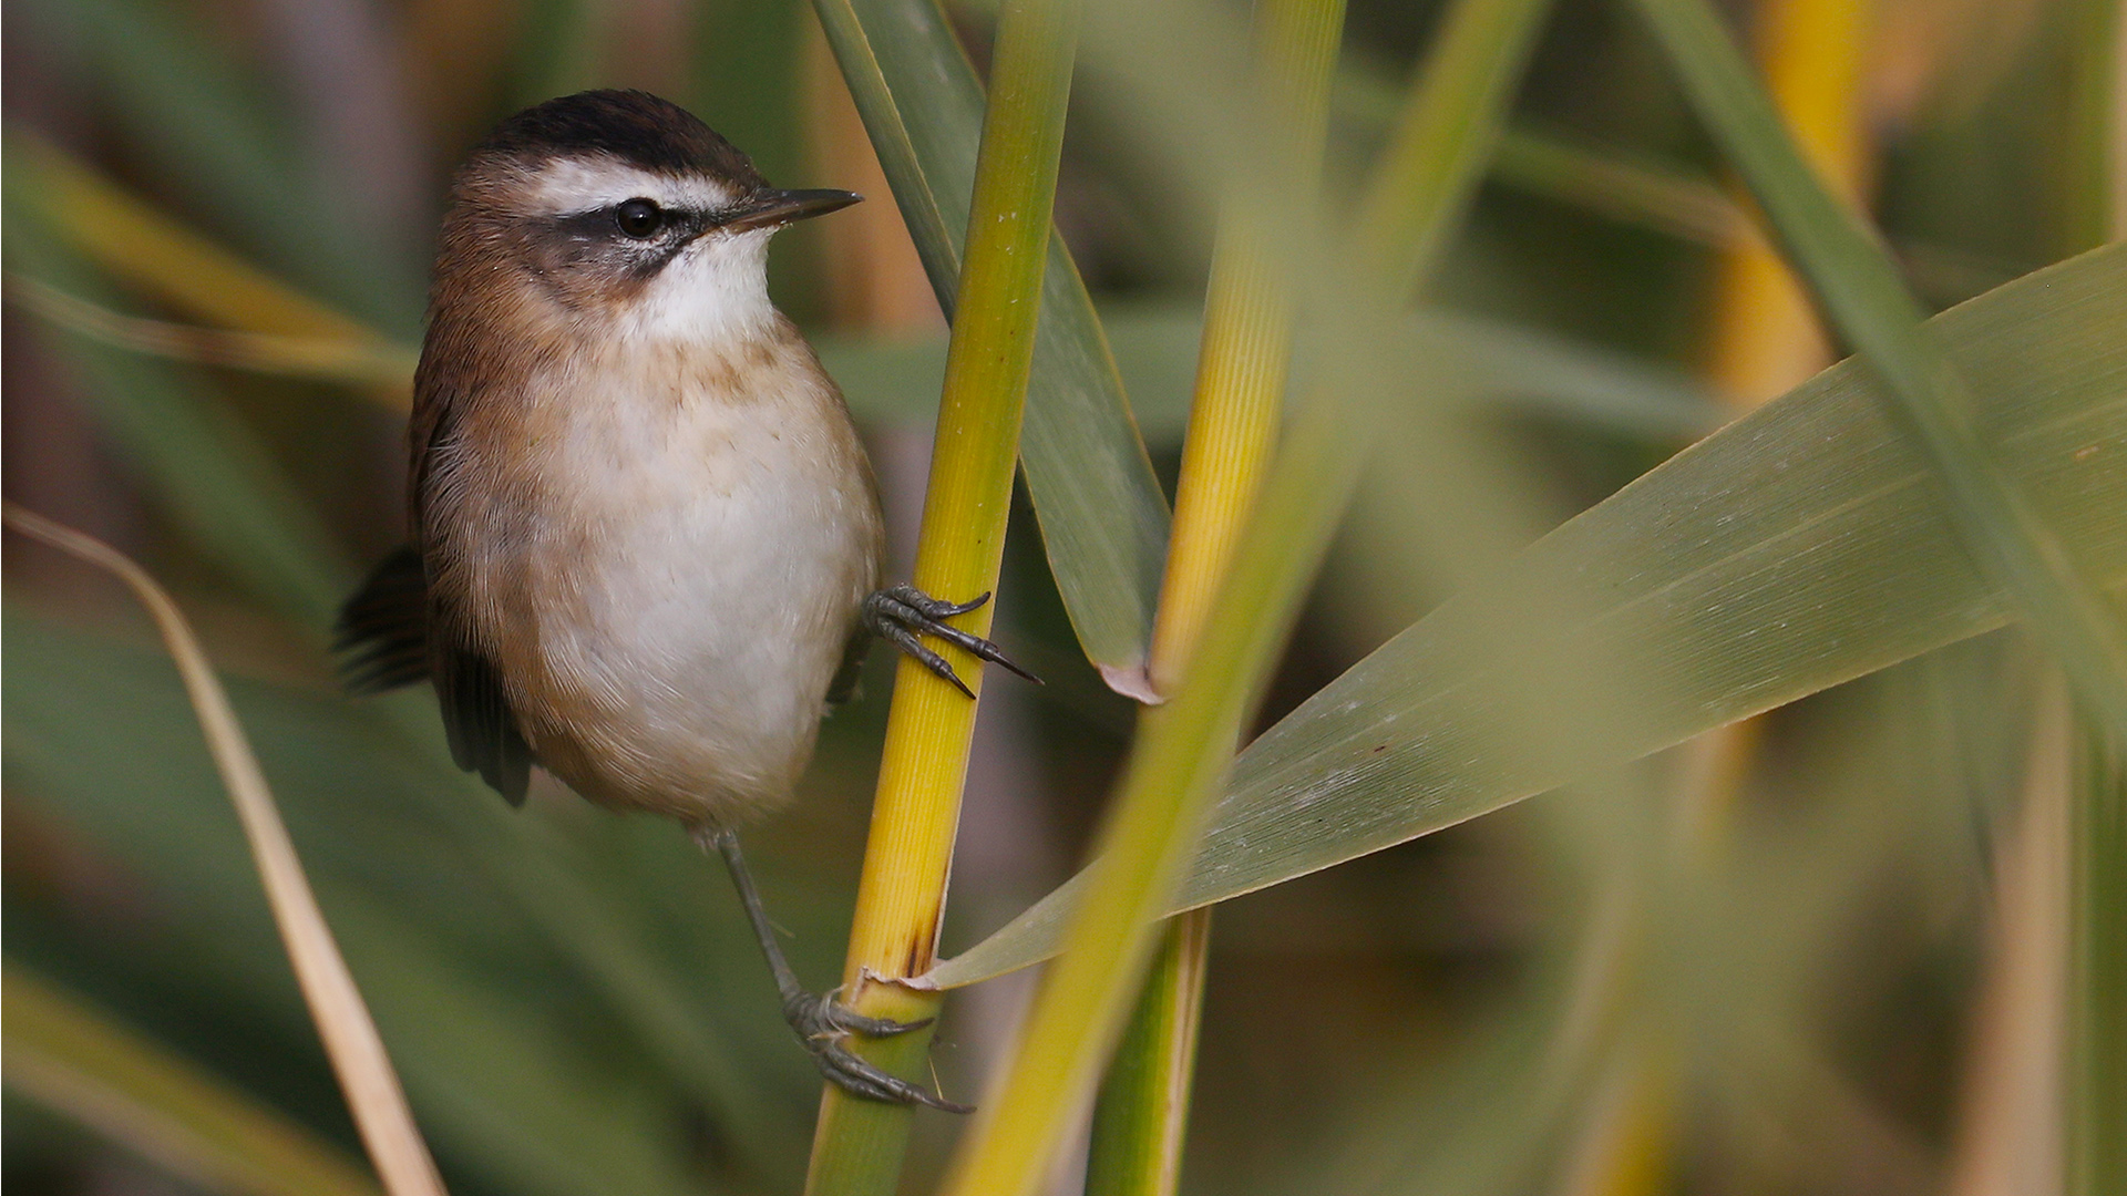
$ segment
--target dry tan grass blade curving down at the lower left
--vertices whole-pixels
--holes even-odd
[[[347,960],[325,926],[325,915],[317,909],[311,883],[296,858],[296,845],[281,824],[272,792],[259,773],[251,745],[245,741],[236,711],[230,707],[215,670],[194,638],[185,615],[177,602],[130,558],[43,515],[34,515],[6,504],[6,526],[64,553],[81,558],[119,577],[140,604],[147,607],[162,632],[164,643],[185,679],[185,694],[200,717],[206,747],[213,751],[221,783],[236,804],[236,817],[245,826],[251,856],[257,862],[259,881],[266,885],[266,900],[272,904],[274,924],[287,945],[289,962],[296,968],[296,983],[311,1004],[311,1017],[332,1058],[340,1092],[362,1132],[362,1145],[370,1151],[385,1190],[391,1196],[442,1196],[442,1177],[428,1156],[428,1143],[415,1128],[406,1094],[400,1090],[398,1073],[385,1053],[376,1024],[370,1021],[368,1004],[355,987],[355,977],[347,970]]]

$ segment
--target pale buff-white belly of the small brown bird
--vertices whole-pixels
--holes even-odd
[[[719,826],[789,798],[878,555],[847,415],[806,406],[606,409],[549,447],[481,589],[525,738],[583,796]]]

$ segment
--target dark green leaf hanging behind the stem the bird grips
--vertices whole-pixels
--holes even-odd
[[[857,113],[951,317],[974,194],[983,83],[936,0],[815,0]],[[1019,462],[1087,658],[1134,677],[1151,643],[1168,502],[1100,317],[1051,232]]]

